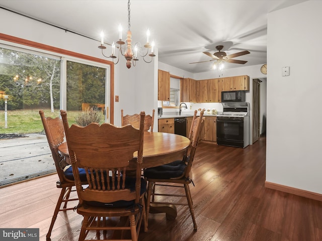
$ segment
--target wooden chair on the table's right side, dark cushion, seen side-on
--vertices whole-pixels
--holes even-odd
[[[199,135],[204,125],[205,117],[203,117],[203,111],[200,112],[200,116],[196,117],[196,111],[193,117],[193,123],[190,129],[189,138],[191,139],[191,145],[188,147],[183,160],[177,160],[172,163],[147,168],[144,171],[144,177],[148,181],[148,190],[146,197],[146,218],[148,218],[150,204],[175,204],[175,205],[188,205],[194,225],[194,229],[197,229],[197,223],[195,220],[193,201],[189,189],[189,184],[192,183],[192,164],[198,145]],[[178,185],[177,185],[178,184]],[[167,186],[168,188],[184,188],[184,194],[177,194],[177,192],[169,193],[156,193],[156,186]],[[169,190],[167,188],[167,190]],[[174,202],[174,201],[155,201],[155,196],[175,196],[186,197],[187,202]]]

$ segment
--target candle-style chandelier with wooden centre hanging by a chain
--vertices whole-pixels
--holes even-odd
[[[146,32],[146,44],[144,44],[144,48],[141,46],[141,44],[139,42],[136,42],[134,45],[134,54],[133,54],[133,50],[132,50],[132,33],[130,30],[131,27],[131,22],[130,22],[130,0],[128,1],[127,4],[127,10],[128,10],[128,31],[127,31],[127,36],[126,36],[126,40],[125,42],[122,40],[122,27],[121,25],[119,26],[119,40],[116,41],[116,44],[118,45],[117,47],[115,46],[115,43],[113,42],[112,44],[112,55],[110,56],[106,56],[103,53],[103,50],[106,49],[106,47],[104,46],[104,33],[102,31],[101,33],[101,45],[99,46],[99,49],[102,50],[102,55],[106,58],[112,58],[113,59],[113,63],[117,64],[119,62],[119,57],[120,57],[120,53],[121,55],[123,55],[126,59],[126,67],[129,69],[131,68],[131,65],[133,63],[133,66],[135,66],[136,61],[138,61],[138,55],[142,57],[142,59],[144,60],[144,62],[146,63],[151,63],[153,60],[153,57],[155,56],[154,54],[154,42],[152,41],[152,43],[149,43],[149,37],[150,37],[150,31],[147,30]],[[125,45],[126,43],[126,45]],[[115,47],[118,48],[118,53],[117,53],[117,57],[115,55]],[[150,53],[149,53],[149,50]],[[147,61],[145,60],[144,57],[146,56],[150,56],[150,60]],[[114,60],[117,59],[116,62],[114,62]]]

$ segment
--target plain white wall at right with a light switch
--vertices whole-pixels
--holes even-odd
[[[321,9],[307,1],[268,15],[266,154],[266,181],[320,194]]]

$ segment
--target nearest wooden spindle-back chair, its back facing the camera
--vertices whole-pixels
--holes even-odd
[[[103,230],[104,240],[111,237],[108,230],[130,230],[131,239],[122,240],[137,240],[142,220],[146,227],[143,202],[146,181],[141,178],[144,115],[142,111],[139,129],[107,123],[69,128],[67,113],[61,110],[79,198],[76,210],[84,216],[78,240],[85,240],[91,230],[97,231],[98,238]],[[134,153],[137,153],[135,158]],[[131,170],[130,163],[134,176],[127,172]],[[87,188],[81,185],[78,168],[85,169]],[[114,219],[110,217],[120,217],[120,222],[113,226]],[[124,238],[123,231],[121,238]]]

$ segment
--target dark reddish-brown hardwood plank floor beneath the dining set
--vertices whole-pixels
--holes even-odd
[[[149,230],[139,240],[322,240],[322,203],[265,188],[265,157],[265,138],[246,149],[200,143],[190,187],[198,230],[188,206],[178,206],[175,220],[149,214]],[[40,228],[45,240],[60,191],[56,180],[51,175],[0,189],[0,227]],[[72,210],[60,212],[51,240],[78,240],[81,222]]]

